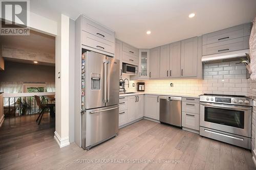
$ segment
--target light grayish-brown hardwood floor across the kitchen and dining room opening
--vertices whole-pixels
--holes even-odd
[[[14,151],[1,151],[0,168],[256,169],[251,153],[245,149],[145,119],[120,129],[117,137],[89,151],[75,143],[60,149],[53,136],[44,140]],[[82,162],[85,160],[126,162]],[[156,163],[128,163],[128,160],[155,160]],[[159,163],[159,160],[178,160],[179,163]]]

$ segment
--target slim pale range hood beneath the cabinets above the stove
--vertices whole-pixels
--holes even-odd
[[[228,60],[228,61],[240,60],[241,58],[246,57],[245,53],[249,53],[249,49],[202,56],[202,62],[205,63],[205,62],[218,62],[218,61],[225,61],[225,60]]]

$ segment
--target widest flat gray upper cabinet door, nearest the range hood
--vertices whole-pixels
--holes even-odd
[[[181,41],[181,77],[197,77],[198,37]]]

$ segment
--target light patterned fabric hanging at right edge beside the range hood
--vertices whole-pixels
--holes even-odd
[[[252,21],[251,35],[249,39],[250,47],[250,59],[251,59],[251,70],[252,74],[250,76],[252,81],[256,81],[256,17]]]

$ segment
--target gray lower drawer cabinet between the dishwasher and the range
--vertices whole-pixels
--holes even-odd
[[[182,98],[182,127],[199,131],[200,103],[198,98]]]

